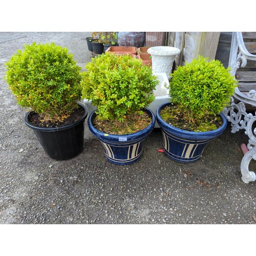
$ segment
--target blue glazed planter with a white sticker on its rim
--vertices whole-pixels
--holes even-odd
[[[155,126],[156,118],[150,109],[144,110],[152,117],[152,122],[144,130],[126,135],[105,134],[95,129],[92,120],[96,117],[95,111],[88,118],[90,131],[100,140],[106,158],[118,165],[132,164],[139,160],[143,150],[144,140]]]

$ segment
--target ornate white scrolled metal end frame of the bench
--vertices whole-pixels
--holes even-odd
[[[243,41],[242,32],[233,32],[230,49],[229,66],[231,67],[231,75],[235,75],[239,67],[244,68],[247,65],[247,59],[256,60],[256,56],[250,54]],[[234,102],[238,100],[238,103]],[[247,113],[245,103],[256,107],[256,90],[250,90],[247,94],[243,94],[236,88],[233,97],[231,97],[230,105],[223,111],[224,116],[231,122],[231,132],[236,133],[241,129],[245,130],[245,134],[249,137],[247,148],[241,162],[242,180],[245,183],[256,180],[256,175],[249,170],[250,161],[256,160],[256,128],[253,129],[253,123],[256,121],[255,114]],[[255,126],[255,125],[254,125]]]

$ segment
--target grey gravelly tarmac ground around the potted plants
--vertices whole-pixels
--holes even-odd
[[[230,125],[196,163],[168,159],[155,129],[141,159],[118,166],[106,160],[86,125],[84,150],[66,161],[46,155],[2,79],[4,63],[24,44],[68,47],[84,68],[89,32],[0,33],[1,224],[255,224],[255,183],[241,180],[244,133]],[[86,120],[87,122],[87,120]],[[255,162],[251,163],[255,169]]]

